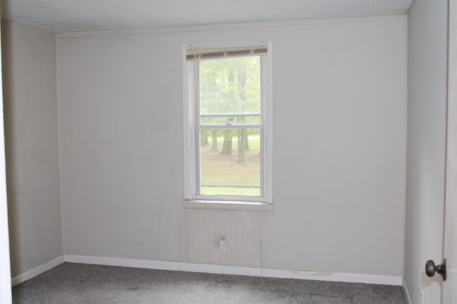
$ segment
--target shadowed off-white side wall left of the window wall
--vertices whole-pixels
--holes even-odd
[[[2,23],[11,276],[63,253],[54,34]]]

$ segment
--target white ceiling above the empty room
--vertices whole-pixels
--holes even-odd
[[[407,14],[413,0],[2,0],[2,19],[54,33]]]

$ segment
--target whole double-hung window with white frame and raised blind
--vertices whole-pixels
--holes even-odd
[[[186,201],[271,203],[271,43],[184,46]]]

